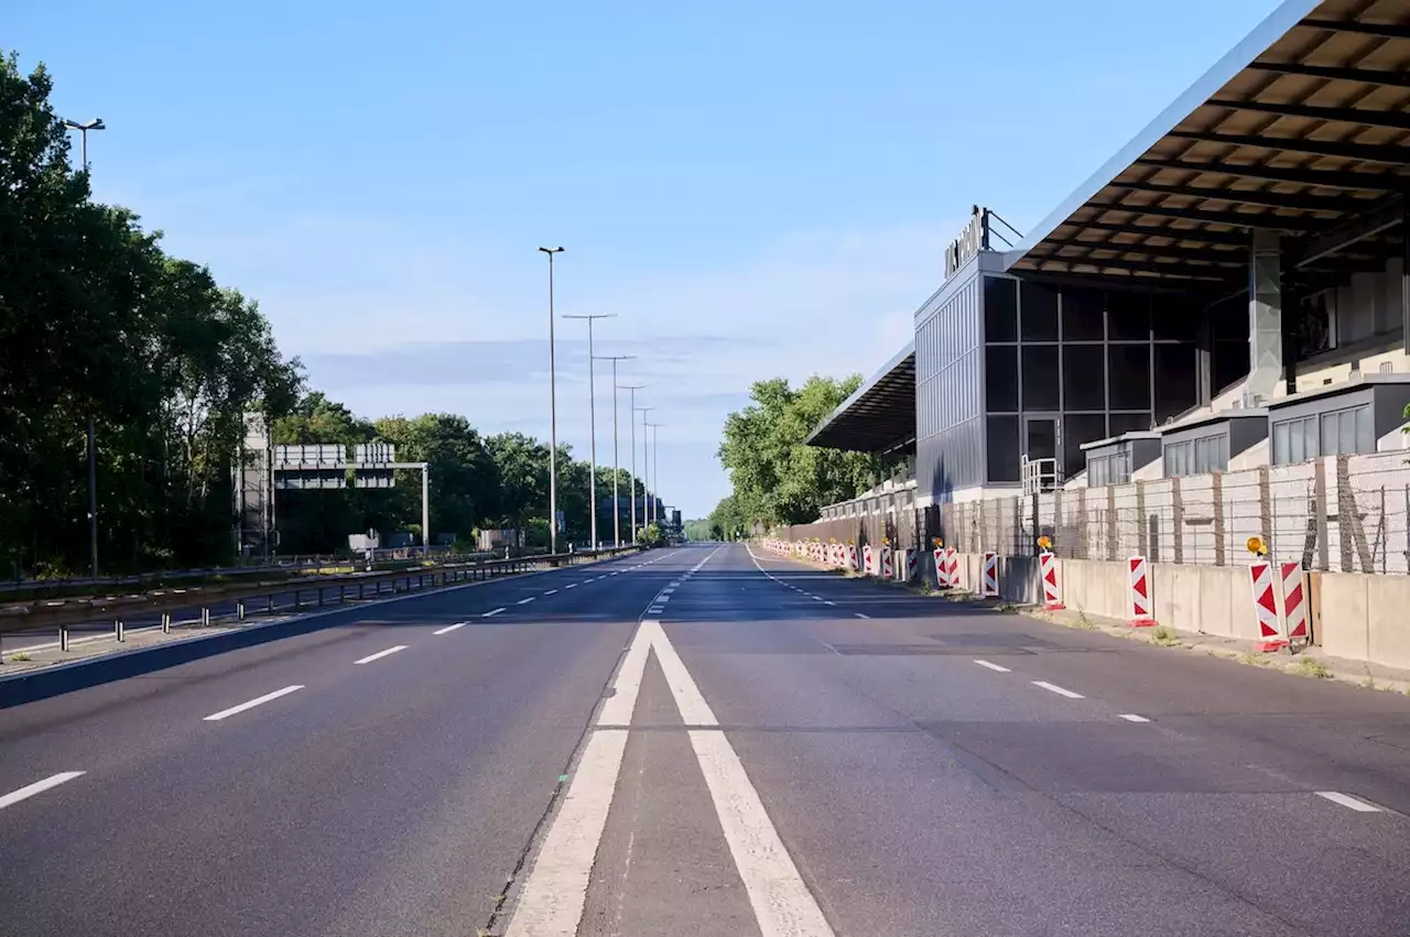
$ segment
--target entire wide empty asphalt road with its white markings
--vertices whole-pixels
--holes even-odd
[[[1410,933],[1410,699],[743,547],[350,609],[0,752],[7,937]]]

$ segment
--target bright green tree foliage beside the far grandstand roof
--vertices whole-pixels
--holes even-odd
[[[732,493],[711,513],[722,537],[756,524],[799,524],[825,504],[856,497],[884,478],[895,458],[804,445],[804,440],[862,385],[812,376],[801,387],[784,378],[759,380],[752,403],[725,420],[719,461]]]

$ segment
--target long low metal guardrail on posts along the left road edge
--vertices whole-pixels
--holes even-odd
[[[337,595],[338,604],[347,602],[350,590],[355,589],[358,599],[367,599],[368,590],[381,596],[389,588],[392,595],[426,588],[443,588],[461,582],[478,582],[495,576],[527,572],[532,569],[553,569],[564,565],[619,557],[634,552],[636,547],[615,550],[578,551],[571,554],[543,554],[537,557],[516,557],[509,559],[488,559],[482,562],[450,564],[422,569],[398,569],[392,572],[360,572],[351,575],[309,576],[300,579],[278,579],[258,583],[231,583],[213,586],[192,586],[189,589],[158,589],[140,595],[92,596],[73,599],[38,600],[23,604],[0,606],[0,634],[32,631],[37,628],[59,630],[61,650],[69,648],[69,626],[111,620],[117,640],[123,640],[125,621],[137,614],[161,612],[162,630],[171,631],[171,613],[178,609],[200,609],[202,623],[210,623],[210,609],[217,604],[235,603],[237,617],[245,619],[251,600],[264,599],[266,612],[274,610],[274,597],[293,595],[295,609],[303,607],[303,596],[316,597],[317,604],[329,602],[330,593]]]

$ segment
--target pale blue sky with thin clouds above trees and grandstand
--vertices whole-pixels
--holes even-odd
[[[698,517],[753,382],[870,375],[971,204],[1026,231],[1276,6],[7,0],[0,48],[106,121],[96,197],[257,299],[362,416],[547,438],[536,248],[563,245],[557,311],[615,316],[595,351],[634,355],[653,488]],[[556,333],[585,458],[587,328]]]

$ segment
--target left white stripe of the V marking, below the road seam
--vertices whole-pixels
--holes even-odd
[[[574,937],[578,933],[592,860],[608,823],[625,751],[625,728],[596,728],[588,737],[505,937]]]

